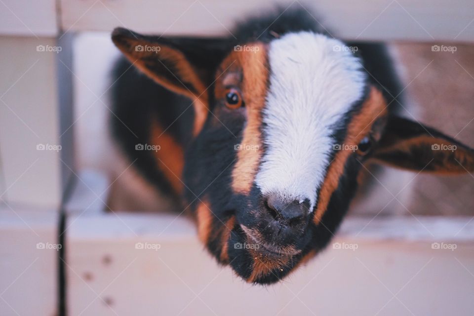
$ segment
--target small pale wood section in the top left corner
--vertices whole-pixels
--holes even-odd
[[[52,37],[58,34],[56,0],[1,0],[0,35]]]

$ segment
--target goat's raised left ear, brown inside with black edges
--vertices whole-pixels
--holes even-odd
[[[116,28],[112,41],[135,67],[165,88],[206,101],[206,78],[172,40]]]

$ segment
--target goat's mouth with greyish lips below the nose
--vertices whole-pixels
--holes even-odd
[[[265,238],[257,230],[250,229],[245,225],[240,225],[240,227],[242,228],[243,232],[245,233],[245,236],[247,237],[249,243],[247,247],[254,249],[257,252],[275,257],[291,257],[301,253],[301,250],[297,249],[295,246],[282,246],[275,243],[266,242]]]

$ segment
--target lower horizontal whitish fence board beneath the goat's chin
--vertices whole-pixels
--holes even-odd
[[[83,200],[95,196],[88,192]],[[71,315],[470,315],[474,308],[470,218],[349,217],[324,252],[268,287],[219,267],[184,216],[73,212],[67,227]]]

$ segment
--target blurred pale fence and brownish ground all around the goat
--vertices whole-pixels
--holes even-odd
[[[472,174],[384,168],[327,250],[261,287],[115,147],[115,27],[228,36],[276,4],[386,42],[403,115],[474,147],[472,1],[0,0],[0,315],[472,315]]]

